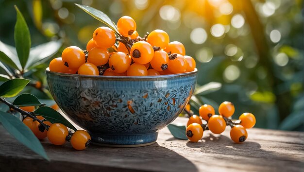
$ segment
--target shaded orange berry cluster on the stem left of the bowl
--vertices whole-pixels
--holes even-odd
[[[34,106],[24,106],[20,109],[33,112]],[[43,121],[49,128],[44,128],[37,120],[30,117],[24,118],[23,123],[31,129],[38,139],[48,138],[54,145],[63,145],[66,141],[70,141],[72,147],[76,150],[84,150],[90,144],[91,137],[84,130],[77,130],[72,134],[64,124],[51,123],[42,116],[36,116],[36,118]]]

